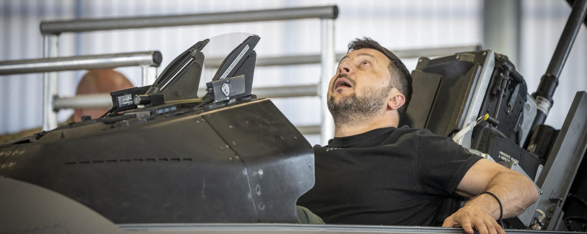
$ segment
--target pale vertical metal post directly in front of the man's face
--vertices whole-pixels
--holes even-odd
[[[322,145],[334,137],[334,120],[328,110],[328,84],[335,72],[334,51],[334,19],[321,19],[321,79],[320,79],[320,107],[321,107],[321,135]]]

